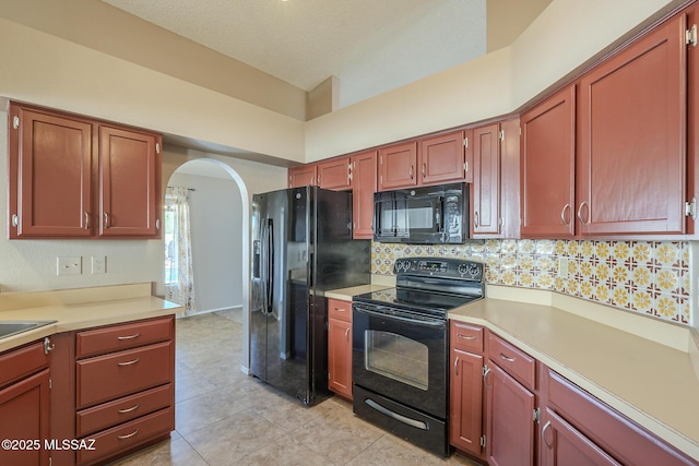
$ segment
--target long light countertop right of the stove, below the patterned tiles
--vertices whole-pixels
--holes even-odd
[[[633,315],[661,334],[686,339],[665,345],[558,307],[491,298],[458,308],[449,318],[490,328],[699,459],[699,380],[688,328]],[[662,328],[666,325],[672,327]]]

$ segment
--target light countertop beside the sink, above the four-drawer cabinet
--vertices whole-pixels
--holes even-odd
[[[169,315],[180,309],[151,296],[151,284],[0,294],[0,321],[56,321],[0,338],[0,351],[61,332]]]

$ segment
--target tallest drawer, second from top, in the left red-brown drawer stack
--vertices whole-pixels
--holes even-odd
[[[76,362],[76,407],[130,395],[173,380],[173,342]]]

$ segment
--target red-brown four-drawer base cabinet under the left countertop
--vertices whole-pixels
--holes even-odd
[[[175,429],[175,319],[78,332],[75,342],[75,438],[93,439],[95,449],[78,451],[76,464],[167,438]]]

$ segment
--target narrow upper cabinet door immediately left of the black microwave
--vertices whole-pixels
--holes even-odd
[[[354,239],[374,238],[374,193],[377,152],[352,156],[352,218]]]

